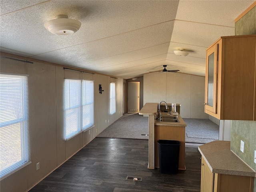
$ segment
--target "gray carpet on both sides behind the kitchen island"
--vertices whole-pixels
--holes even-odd
[[[186,122],[185,140],[187,143],[208,143],[218,140],[219,126],[208,119],[183,118]],[[108,126],[97,137],[148,139],[148,117],[125,114]]]

